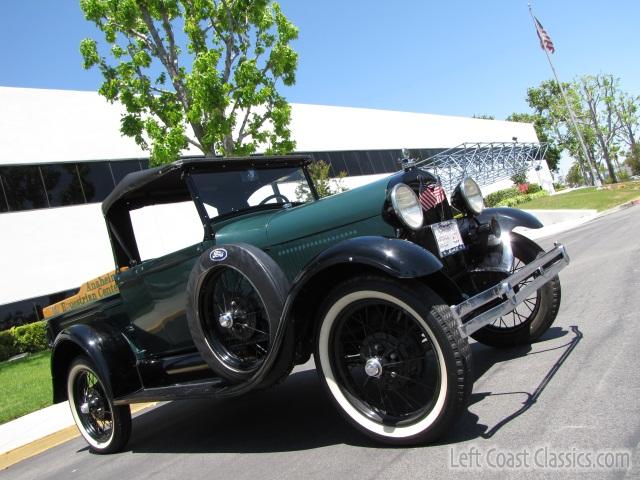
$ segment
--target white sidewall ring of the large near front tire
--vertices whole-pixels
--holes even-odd
[[[381,425],[377,422],[374,422],[370,418],[366,417],[364,414],[359,412],[352,404],[349,402],[345,394],[342,392],[338,382],[335,378],[335,373],[331,368],[331,362],[329,359],[329,338],[330,332],[333,324],[335,323],[336,318],[347,306],[356,302],[358,300],[364,299],[380,299],[387,301],[389,303],[395,304],[398,307],[402,308],[406,312],[408,312],[415,320],[417,320],[420,325],[423,327],[425,332],[429,336],[429,340],[431,341],[438,358],[438,364],[440,368],[440,391],[438,392],[438,398],[436,403],[424,417],[420,420],[416,421],[411,425],[405,425],[401,427],[393,427],[389,425]],[[420,316],[413,308],[409,305],[401,301],[395,296],[389,295],[387,293],[379,292],[376,290],[361,290],[353,293],[349,293],[343,297],[341,297],[338,301],[336,301],[331,308],[325,314],[322,320],[322,326],[320,327],[320,332],[318,334],[318,353],[319,353],[319,361],[322,368],[322,373],[324,375],[325,382],[329,388],[329,391],[333,395],[333,398],[340,405],[342,410],[356,423],[358,423],[365,430],[380,435],[387,438],[397,438],[403,439],[408,437],[413,437],[415,435],[419,435],[429,427],[431,427],[436,420],[440,417],[446,403],[447,403],[447,390],[448,390],[448,378],[447,378],[447,367],[445,364],[444,354],[442,352],[442,348],[440,347],[439,342],[437,341],[434,333],[431,330],[431,327],[427,324],[427,322]]]

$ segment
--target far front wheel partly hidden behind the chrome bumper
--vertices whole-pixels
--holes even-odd
[[[538,244],[522,235],[512,233],[511,238],[514,263],[510,274],[534,261],[543,252]],[[525,279],[515,290],[526,286],[532,280]],[[553,324],[560,308],[560,294],[560,279],[556,275],[512,311],[478,330],[472,337],[494,347],[529,344],[542,336]]]

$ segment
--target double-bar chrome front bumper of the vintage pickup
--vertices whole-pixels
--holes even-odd
[[[451,312],[458,320],[458,326],[463,338],[468,337],[516,308],[519,303],[531,296],[557,275],[560,270],[569,265],[569,262],[569,254],[565,247],[556,244],[552,250],[539,256],[499,284],[474,295],[458,305],[452,305]],[[515,289],[529,277],[533,278],[529,283],[517,290]],[[483,307],[496,300],[501,300],[501,302],[488,310],[483,310]],[[476,311],[479,311],[479,313],[474,314]]]

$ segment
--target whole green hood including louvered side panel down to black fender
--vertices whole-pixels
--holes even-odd
[[[290,280],[323,250],[363,235],[393,236],[382,219],[389,178],[276,212],[259,212],[225,222],[216,243],[245,242],[265,250]]]

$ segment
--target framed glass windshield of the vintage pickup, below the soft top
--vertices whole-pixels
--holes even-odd
[[[302,168],[247,168],[192,175],[209,218],[307,201],[310,189]]]

